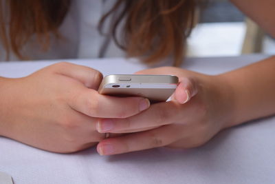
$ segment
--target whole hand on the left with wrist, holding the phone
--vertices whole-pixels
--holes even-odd
[[[56,63],[19,79],[0,78],[0,135],[51,152],[95,145],[100,118],[126,118],[148,108],[147,99],[98,94],[102,74]]]

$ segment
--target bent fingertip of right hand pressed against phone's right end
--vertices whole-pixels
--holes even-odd
[[[180,78],[173,99],[181,104],[187,103],[197,94],[197,83],[194,79]]]

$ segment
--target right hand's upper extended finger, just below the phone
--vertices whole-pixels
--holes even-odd
[[[148,110],[126,119],[100,119],[96,128],[101,133],[140,132],[175,123],[179,114],[184,116],[181,105],[175,101],[155,103]]]

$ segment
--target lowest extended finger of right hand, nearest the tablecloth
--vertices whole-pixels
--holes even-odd
[[[146,150],[170,145],[179,136],[179,128],[177,126],[165,125],[146,132],[104,139],[98,143],[97,151],[100,155],[111,155]]]

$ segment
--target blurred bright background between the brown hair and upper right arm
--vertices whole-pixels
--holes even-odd
[[[275,40],[228,0],[210,0],[188,39],[189,57],[275,54]]]

